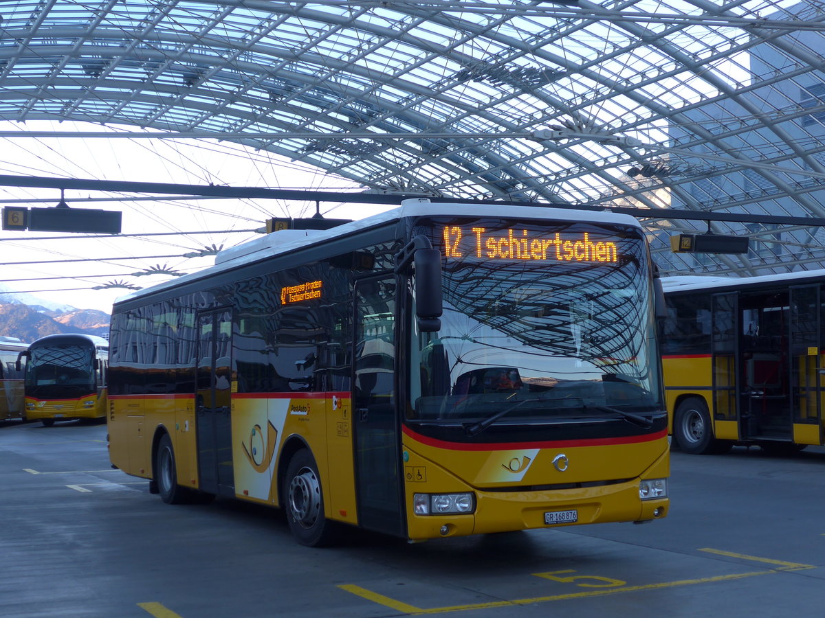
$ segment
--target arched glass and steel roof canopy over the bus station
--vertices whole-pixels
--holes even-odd
[[[0,119],[220,137],[398,194],[651,208],[671,274],[821,268],[823,228],[667,208],[825,217],[823,23],[821,0],[17,0]],[[673,254],[680,231],[752,249]]]

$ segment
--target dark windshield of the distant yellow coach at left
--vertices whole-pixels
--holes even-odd
[[[95,388],[91,346],[32,346],[26,363],[26,393],[31,396],[71,396]],[[67,394],[68,393],[68,394]]]

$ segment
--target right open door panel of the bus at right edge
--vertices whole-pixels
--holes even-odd
[[[793,442],[819,444],[819,286],[790,288],[790,410]]]

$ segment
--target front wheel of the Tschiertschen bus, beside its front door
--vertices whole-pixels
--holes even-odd
[[[323,491],[318,466],[308,449],[290,459],[284,479],[286,521],[301,545],[320,547],[332,542],[335,531],[323,513]]]

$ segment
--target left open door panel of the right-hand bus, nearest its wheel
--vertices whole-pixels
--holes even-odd
[[[714,438],[728,440],[739,439],[747,423],[747,405],[738,396],[738,304],[736,292],[714,294],[711,314]]]

